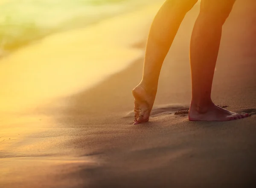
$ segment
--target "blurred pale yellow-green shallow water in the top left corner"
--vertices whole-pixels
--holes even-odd
[[[84,27],[157,0],[6,0],[0,4],[0,55],[54,32]]]

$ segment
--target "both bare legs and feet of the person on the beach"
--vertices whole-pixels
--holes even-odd
[[[157,93],[163,61],[172,45],[180,23],[198,0],[166,0],[151,25],[145,52],[143,78],[134,90],[134,124],[147,122]],[[211,91],[221,41],[222,26],[235,0],[201,0],[201,9],[191,36],[190,65],[192,101],[190,121],[229,121],[248,114],[238,114],[212,102]]]

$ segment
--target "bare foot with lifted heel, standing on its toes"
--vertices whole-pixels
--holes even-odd
[[[133,90],[134,95],[134,125],[148,121],[157,91],[149,91],[142,84]]]

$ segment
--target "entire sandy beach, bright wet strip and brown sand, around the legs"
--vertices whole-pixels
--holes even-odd
[[[95,32],[110,24],[106,20],[97,30],[55,34],[0,60],[0,188],[256,185],[256,2],[238,0],[224,25],[212,91],[216,104],[252,116],[191,122],[186,113],[175,115],[191,100],[196,5],[164,62],[150,121],[134,126],[131,90],[142,76],[158,8],[111,19],[124,30]],[[98,46],[109,51],[96,54]]]

